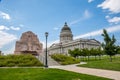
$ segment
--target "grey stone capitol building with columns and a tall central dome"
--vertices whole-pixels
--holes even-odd
[[[99,48],[101,43],[95,39],[75,39],[73,40],[73,34],[70,27],[67,23],[64,24],[60,32],[60,41],[59,43],[53,43],[48,48],[48,54],[68,54],[68,50],[74,50],[75,48],[84,49],[84,48]]]

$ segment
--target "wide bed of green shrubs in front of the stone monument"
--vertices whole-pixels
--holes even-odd
[[[0,67],[26,67],[43,66],[43,64],[32,55],[6,55],[0,56]]]

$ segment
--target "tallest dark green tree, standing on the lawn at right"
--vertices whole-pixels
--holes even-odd
[[[110,56],[110,61],[112,61],[112,56],[116,54],[116,39],[114,35],[112,38],[108,35],[107,31],[103,29],[103,34],[102,36],[104,37],[104,44],[103,44],[103,49],[107,55]]]

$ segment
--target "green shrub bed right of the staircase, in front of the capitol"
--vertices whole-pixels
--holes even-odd
[[[62,54],[53,54],[51,55],[51,57],[62,65],[75,64],[80,62],[79,59],[75,59],[71,56],[62,55]]]

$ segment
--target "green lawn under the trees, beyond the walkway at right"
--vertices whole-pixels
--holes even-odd
[[[103,57],[102,60],[93,60],[92,58],[92,60],[87,61],[87,64],[82,64],[78,66],[120,71],[120,56],[114,57],[112,62],[110,62],[108,57]]]

